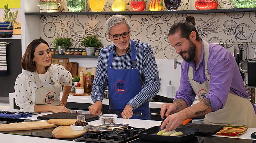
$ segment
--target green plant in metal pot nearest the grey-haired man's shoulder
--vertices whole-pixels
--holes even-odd
[[[94,55],[95,49],[101,47],[100,40],[95,35],[84,37],[81,44],[85,47],[88,56]]]

